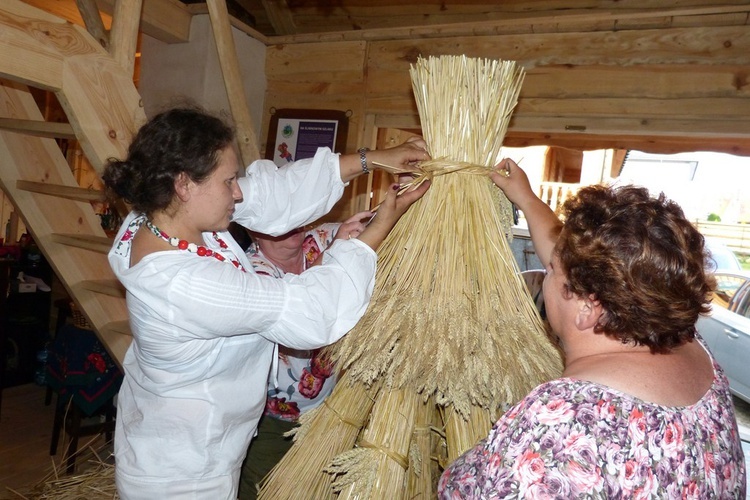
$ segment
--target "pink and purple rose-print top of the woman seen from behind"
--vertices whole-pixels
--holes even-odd
[[[512,407],[440,478],[441,499],[745,498],[729,384],[666,407],[562,378]]]

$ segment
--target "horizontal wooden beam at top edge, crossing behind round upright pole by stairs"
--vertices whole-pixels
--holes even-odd
[[[99,9],[113,15],[116,0],[96,0]],[[143,0],[140,29],[165,43],[190,41],[193,15],[179,0]]]

